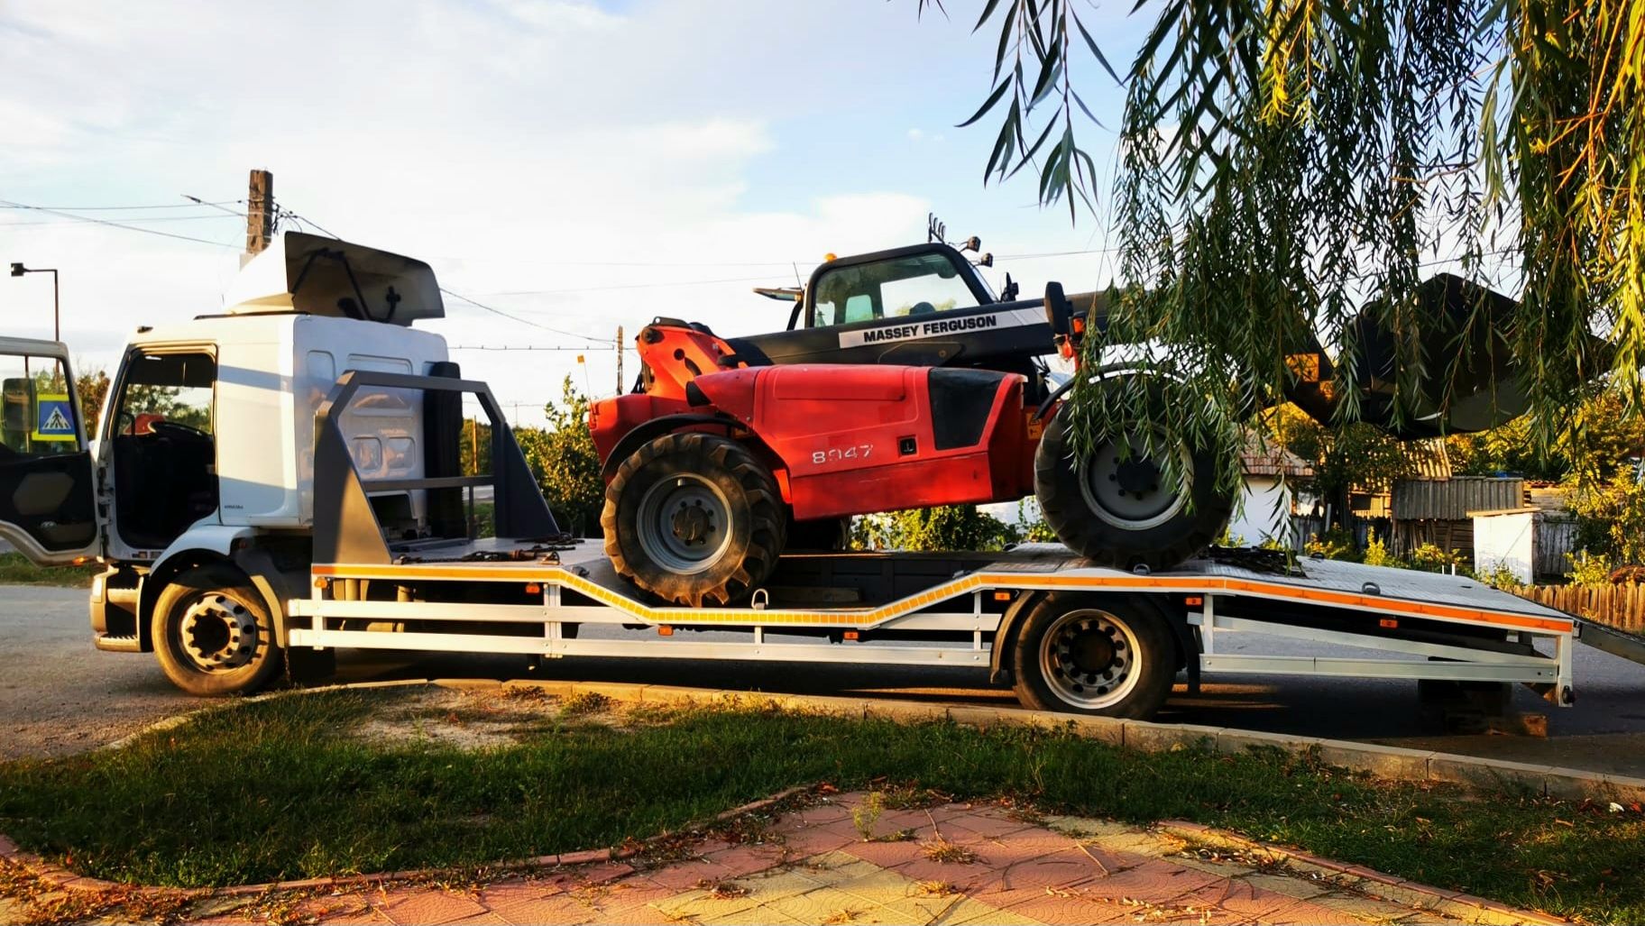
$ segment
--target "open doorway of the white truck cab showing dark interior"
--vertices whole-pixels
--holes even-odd
[[[217,510],[212,393],[206,352],[133,354],[109,423],[115,526],[137,548],[164,548]]]

